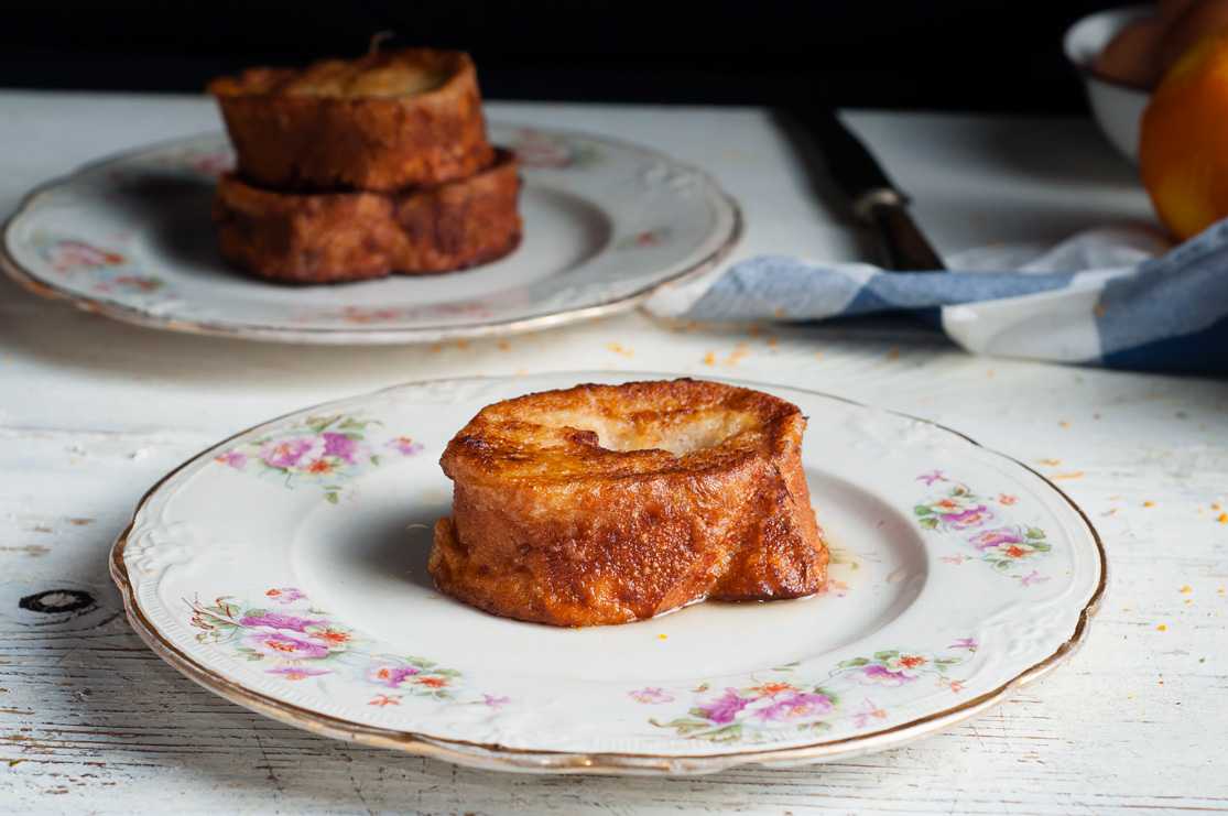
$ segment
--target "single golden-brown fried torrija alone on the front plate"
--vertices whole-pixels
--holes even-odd
[[[554,626],[625,623],[711,598],[799,598],[828,551],[806,420],[769,394],[677,379],[577,385],[483,409],[441,459],[445,593]]]

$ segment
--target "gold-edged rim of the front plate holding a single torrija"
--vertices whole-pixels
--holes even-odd
[[[468,740],[449,740],[443,737],[429,736],[425,734],[418,734],[414,731],[405,731],[391,728],[379,728],[373,725],[363,725],[360,723],[352,723],[350,720],[341,719],[339,717],[333,717],[329,714],[322,714],[313,712],[307,708],[302,708],[293,703],[286,703],[258,691],[249,690],[232,680],[228,680],[220,675],[219,672],[201,665],[198,660],[193,659],[190,655],[184,653],[179,647],[174,645],[169,639],[167,639],[154,623],[145,616],[140,610],[136,601],[135,588],[133,587],[129,575],[128,567],[124,563],[124,550],[128,544],[128,536],[131,534],[133,528],[136,522],[136,517],[140,515],[141,510],[154,497],[154,495],[162,488],[171,479],[178,475],[181,471],[194,464],[198,459],[214,450],[220,445],[225,445],[252,431],[274,422],[280,422],[291,416],[298,414],[308,412],[319,409],[333,402],[350,400],[350,399],[363,399],[368,396],[376,396],[378,394],[402,389],[414,385],[430,385],[432,383],[441,382],[506,382],[512,379],[527,379],[534,375],[560,375],[560,377],[592,377],[602,374],[614,374],[614,375],[628,375],[628,377],[645,377],[645,378],[672,378],[672,377],[689,377],[688,374],[680,373],[668,373],[668,372],[641,372],[641,371],[559,371],[559,372],[538,372],[537,374],[529,374],[528,377],[511,377],[511,375],[469,375],[469,377],[436,377],[427,379],[415,379],[406,380],[403,383],[397,383],[386,388],[379,388],[372,391],[366,391],[351,396],[343,396],[338,399],[325,400],[309,406],[303,406],[293,411],[289,411],[276,417],[271,417],[258,422],[248,428],[241,429],[223,439],[220,439],[210,444],[204,450],[189,456],[183,463],[165,474],[157,482],[155,482],[136,503],[133,510],[131,518],[124,526],[123,531],[117,536],[115,542],[112,545],[111,553],[108,556],[111,578],[119,589],[120,598],[124,604],[124,612],[129,625],[141,638],[141,641],[165,663],[169,664],[173,669],[179,671],[182,675],[187,676],[189,680],[200,685],[201,687],[211,691],[220,697],[228,699],[232,703],[242,706],[249,710],[254,710],[258,714],[269,717],[270,719],[285,723],[287,725],[293,725],[296,728],[311,731],[313,734],[330,736],[333,739],[341,739],[346,741],[357,742],[361,745],[368,745],[373,747],[388,747],[395,749],[410,755],[429,756],[432,758],[445,760],[448,762],[454,762],[469,767],[480,767],[486,769],[496,771],[519,771],[519,772],[539,772],[539,773],[604,773],[604,774],[698,774],[698,773],[715,773],[718,771],[725,771],[727,768],[752,764],[752,763],[785,763],[785,764],[803,764],[807,762],[825,762],[841,757],[857,756],[861,753],[868,753],[872,751],[880,751],[889,747],[895,747],[904,742],[912,741],[927,734],[932,734],[964,720],[968,720],[976,714],[997,706],[1006,701],[1011,693],[1016,690],[1032,683],[1040,677],[1047,675],[1052,669],[1060,664],[1068,660],[1079,647],[1087,641],[1088,631],[1090,629],[1092,617],[1097,614],[1100,601],[1104,598],[1105,588],[1109,579],[1109,562],[1108,553],[1104,548],[1104,541],[1100,537],[1099,530],[1092,523],[1088,514],[1081,508],[1063,490],[1047,479],[1039,471],[1036,471],[1030,465],[1019,461],[1018,459],[1005,454],[993,448],[989,448],[976,442],[966,433],[950,428],[941,422],[935,422],[932,420],[926,420],[922,417],[906,414],[904,411],[896,411],[893,409],[884,409],[876,405],[869,405],[860,400],[841,396],[839,394],[831,394],[828,391],[820,391],[815,389],[799,388],[796,385],[788,385],[785,383],[765,383],[759,380],[747,380],[737,378],[723,378],[712,377],[702,379],[712,379],[716,382],[725,382],[736,385],[742,385],[745,388],[782,388],[796,391],[802,391],[814,396],[820,396],[823,399],[830,399],[846,405],[852,405],[861,409],[869,409],[876,411],[883,411],[901,418],[911,420],[915,422],[922,422],[925,425],[936,427],[941,431],[950,433],[960,439],[964,439],[975,448],[998,456],[1011,464],[1014,464],[1027,472],[1036,476],[1047,488],[1054,491],[1062,501],[1065,501],[1071,509],[1078,515],[1087,528],[1088,534],[1090,534],[1092,541],[1095,544],[1098,567],[1100,571],[1099,580],[1095,589],[1088,596],[1088,600],[1079,610],[1078,620],[1074,625],[1073,632],[1063,641],[1059,647],[1049,654],[1046,658],[1035,663],[1027,669],[1022,670],[1016,676],[1002,682],[997,687],[979,695],[971,699],[962,701],[957,706],[944,708],[942,710],[926,714],[923,717],[917,717],[906,723],[900,723],[887,729],[880,729],[877,731],[869,731],[866,734],[856,734],[846,737],[840,737],[837,740],[817,740],[802,746],[792,746],[786,749],[763,749],[758,751],[733,751],[726,753],[706,753],[706,755],[682,755],[682,753],[620,753],[620,752],[583,752],[583,751],[549,751],[539,749],[512,749],[501,746],[497,744],[483,744]],[[577,379],[577,382],[581,382]]]

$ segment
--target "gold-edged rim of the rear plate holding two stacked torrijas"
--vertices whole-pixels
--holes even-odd
[[[503,121],[496,119],[489,125],[499,128],[515,128],[521,130],[539,130],[545,133],[564,134],[569,136],[575,136],[580,139],[587,139],[592,141],[603,142],[607,145],[614,145],[624,150],[634,150],[641,153],[646,153],[668,162],[673,167],[688,171],[690,173],[698,174],[704,179],[704,183],[709,188],[712,200],[728,207],[731,216],[731,223],[727,233],[721,239],[720,244],[709,252],[702,258],[698,259],[689,266],[679,270],[677,274],[667,277],[664,280],[648,283],[647,286],[639,288],[629,294],[616,297],[613,299],[603,301],[600,303],[594,303],[592,306],[582,306],[573,308],[562,308],[555,312],[549,312],[546,314],[537,314],[524,318],[512,318],[508,320],[494,320],[480,324],[463,325],[463,326],[419,326],[414,329],[391,329],[391,328],[360,328],[360,326],[348,326],[343,329],[329,329],[329,328],[300,328],[289,329],[284,326],[270,326],[270,325],[231,325],[227,323],[219,323],[216,320],[189,320],[169,315],[160,315],[156,313],[150,313],[149,310],[140,309],[134,306],[125,306],[120,303],[108,303],[101,298],[91,297],[88,294],[81,294],[77,292],[71,292],[69,290],[61,288],[53,282],[49,282],[41,276],[36,275],[32,270],[23,266],[10,252],[10,243],[14,241],[12,236],[16,231],[17,223],[26,217],[34,207],[34,204],[39,198],[50,193],[58,188],[61,188],[87,173],[102,169],[109,164],[114,164],[125,160],[131,160],[140,157],[147,152],[152,152],[160,148],[173,147],[174,145],[187,144],[195,140],[205,139],[209,136],[226,136],[225,130],[209,130],[200,131],[196,134],[189,134],[184,136],[174,136],[169,139],[161,139],[147,145],[140,145],[136,147],[129,147],[125,150],[107,153],[98,158],[92,158],[74,169],[54,175],[44,182],[31,188],[21,196],[17,206],[14,209],[12,214],[5,218],[4,226],[0,227],[0,270],[2,270],[10,280],[16,282],[25,291],[36,294],[49,301],[68,301],[76,309],[86,312],[88,314],[98,314],[119,323],[126,323],[129,325],[141,326],[144,329],[157,329],[162,331],[174,331],[179,334],[190,334],[198,336],[211,336],[211,337],[230,337],[236,340],[253,340],[260,342],[286,342],[296,345],[416,345],[427,342],[445,342],[448,340],[475,340],[481,337],[496,337],[496,336],[508,336],[513,334],[522,334],[526,331],[539,331],[543,329],[553,329],[555,326],[567,325],[571,323],[580,323],[583,320],[593,320],[597,318],[607,317],[610,314],[618,314],[620,312],[626,312],[634,309],[636,306],[648,299],[658,290],[683,285],[695,277],[704,275],[705,272],[713,269],[717,264],[723,261],[734,250],[734,248],[742,242],[745,233],[745,216],[742,212],[742,207],[729,193],[721,185],[717,178],[709,173],[707,171],[699,168],[694,164],[678,161],[673,156],[664,153],[653,147],[647,147],[639,145],[634,141],[628,141],[618,137],[610,137],[602,134],[596,134],[586,130],[572,129],[572,128],[554,128],[554,126],[539,126],[528,125],[516,121]]]

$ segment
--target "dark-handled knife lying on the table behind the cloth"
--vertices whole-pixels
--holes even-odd
[[[943,270],[938,253],[909,215],[909,196],[835,112],[793,109],[788,114],[823,152],[828,175],[853,217],[873,231],[883,266],[903,272]]]

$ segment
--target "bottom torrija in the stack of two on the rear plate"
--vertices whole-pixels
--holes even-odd
[[[464,269],[519,243],[517,164],[508,151],[472,178],[383,193],[273,193],[223,175],[214,201],[222,256],[291,283],[334,283]]]

